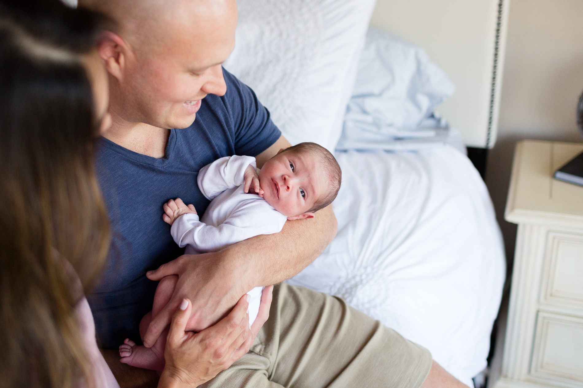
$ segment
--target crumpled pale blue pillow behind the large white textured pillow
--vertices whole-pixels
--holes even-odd
[[[370,29],[360,56],[346,119],[370,115],[382,126],[416,129],[455,85],[419,46]]]

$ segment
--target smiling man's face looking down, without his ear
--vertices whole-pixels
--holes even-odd
[[[111,96],[113,111],[128,122],[185,128],[207,94],[226,92],[221,63],[235,44],[236,3],[184,1],[179,8],[153,27],[147,44],[132,45],[135,56]]]

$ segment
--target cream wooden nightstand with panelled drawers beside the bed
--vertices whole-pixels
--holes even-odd
[[[552,178],[581,151],[517,145],[505,218],[518,234],[496,388],[583,387],[583,187]]]

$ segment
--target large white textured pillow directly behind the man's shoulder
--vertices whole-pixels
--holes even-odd
[[[239,0],[224,67],[250,86],[291,144],[333,151],[375,0]]]

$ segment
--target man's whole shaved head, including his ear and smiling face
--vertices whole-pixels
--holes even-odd
[[[220,64],[234,48],[235,0],[79,0],[117,26],[100,49],[111,112],[161,128],[192,124],[206,94],[223,95]]]

